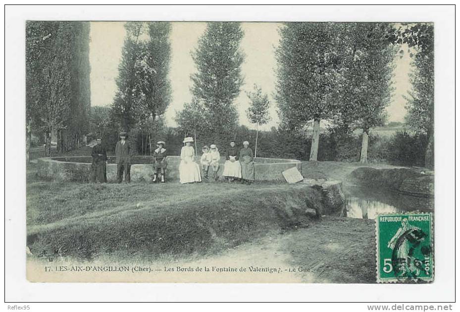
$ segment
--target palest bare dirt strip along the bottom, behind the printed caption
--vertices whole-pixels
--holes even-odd
[[[133,274],[134,272],[98,274],[59,274],[53,278],[65,281],[104,281],[104,282],[193,282],[193,283],[311,283],[323,282],[316,279],[311,272],[299,272],[294,267],[293,257],[284,250],[284,245],[294,239],[292,234],[282,235],[278,231],[270,231],[264,237],[235,248],[227,249],[214,256],[192,256],[171,259],[168,256],[149,261],[148,256],[124,257],[115,260],[113,256],[102,256],[90,262],[75,262],[66,258],[55,259],[53,265],[65,266],[113,266],[150,268],[149,274]],[[30,259],[28,266],[34,270],[40,267],[39,259]],[[47,264],[48,265],[48,264]],[[42,264],[43,266],[43,264]],[[198,270],[197,268],[202,268]],[[207,268],[207,270],[205,269]],[[40,274],[40,273],[39,273]],[[32,274],[31,274],[32,275]],[[50,276],[41,276],[50,280]],[[40,280],[40,278],[39,278]]]

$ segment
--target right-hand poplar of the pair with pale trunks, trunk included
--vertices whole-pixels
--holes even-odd
[[[385,108],[391,102],[395,46],[388,35],[388,23],[350,23],[353,49],[348,69],[341,84],[338,111],[350,129],[362,129],[360,162],[367,162],[367,146],[371,127],[383,126]]]

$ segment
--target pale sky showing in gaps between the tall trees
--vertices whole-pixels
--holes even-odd
[[[175,126],[174,116],[176,111],[183,108],[184,103],[192,99],[190,92],[190,75],[196,71],[191,52],[198,45],[198,40],[204,33],[204,22],[172,22],[170,43],[171,63],[169,78],[172,87],[172,102],[165,112],[166,123]],[[116,92],[115,79],[118,76],[118,64],[121,59],[125,30],[123,22],[91,22],[90,31],[90,64],[91,64],[91,105],[107,106],[113,101]],[[276,104],[273,99],[275,91],[275,48],[278,46],[279,23],[242,23],[244,37],[240,48],[245,54],[242,64],[242,74],[245,83],[239,97],[234,101],[239,115],[240,124],[254,128],[247,117],[246,110],[249,98],[246,92],[252,91],[254,84],[268,94],[270,100],[270,117],[268,124],[261,129],[269,130],[279,122],[276,113]],[[407,48],[406,48],[407,50]],[[395,59],[393,83],[395,92],[391,104],[387,107],[388,121],[404,121],[406,115],[406,100],[410,90],[409,53]]]

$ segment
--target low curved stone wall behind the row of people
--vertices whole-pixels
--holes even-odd
[[[37,161],[38,175],[43,179],[55,181],[88,182],[91,171],[90,156],[69,156],[39,158]],[[108,157],[107,181],[116,180],[116,164],[113,156]],[[134,182],[150,182],[153,177],[153,158],[151,156],[133,156],[131,165],[131,180]],[[166,179],[179,180],[179,156],[168,156]],[[221,157],[219,176],[224,169],[225,158]],[[256,181],[284,181],[282,172],[297,167],[302,172],[302,162],[295,159],[256,158]]]

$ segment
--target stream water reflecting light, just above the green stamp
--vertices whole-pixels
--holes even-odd
[[[432,212],[434,199],[401,194],[385,189],[366,188],[356,185],[344,186],[346,203],[342,215],[374,219],[377,213]]]

